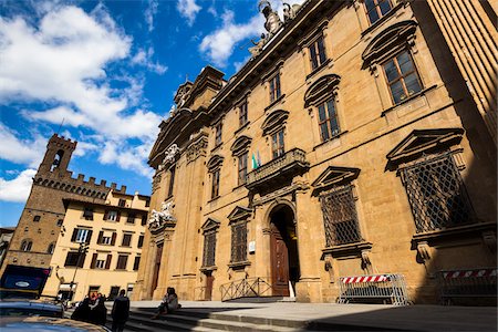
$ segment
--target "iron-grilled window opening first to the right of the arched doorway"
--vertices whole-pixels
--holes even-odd
[[[362,240],[357,222],[353,186],[338,186],[320,196],[326,247]]]

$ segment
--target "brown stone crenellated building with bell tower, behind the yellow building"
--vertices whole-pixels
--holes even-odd
[[[105,180],[85,180],[83,174],[72,177],[68,170],[76,142],[54,134],[46,145],[30,196],[19,219],[9,246],[0,276],[7,264],[49,268],[55,242],[63,225],[65,208],[63,199],[76,199],[105,204],[111,190],[126,194],[126,187],[106,186]]]

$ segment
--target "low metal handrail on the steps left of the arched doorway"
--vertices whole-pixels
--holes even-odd
[[[240,298],[259,298],[262,295],[271,295],[267,292],[271,290],[271,284],[262,277],[240,279],[232,282],[224,283],[219,287],[221,292],[221,301],[228,301]]]

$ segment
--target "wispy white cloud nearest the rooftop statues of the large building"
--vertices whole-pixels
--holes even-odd
[[[227,10],[222,14],[222,25],[203,39],[199,50],[216,65],[225,68],[235,45],[245,39],[261,34],[264,30],[263,23],[263,17],[258,14],[247,23],[237,24],[234,21],[234,12]]]

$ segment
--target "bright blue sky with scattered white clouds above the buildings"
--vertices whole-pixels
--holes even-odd
[[[79,142],[74,176],[149,195],[147,156],[177,86],[207,64],[228,80],[263,31],[257,0],[7,0],[0,13],[3,227],[17,225],[63,118],[59,134]]]

